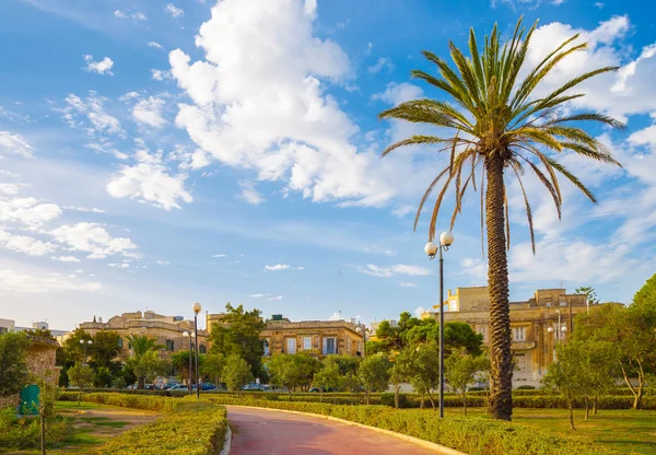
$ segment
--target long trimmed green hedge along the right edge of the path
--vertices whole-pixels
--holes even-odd
[[[386,406],[340,406],[207,396],[218,405],[257,406],[331,416],[431,441],[469,455],[609,455],[616,452],[583,439],[542,434],[535,429],[483,418],[438,419],[434,412]]]

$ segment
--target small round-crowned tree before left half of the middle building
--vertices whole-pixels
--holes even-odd
[[[315,373],[321,369],[321,362],[306,353],[280,354],[267,362],[267,369],[273,383],[288,387],[291,400],[292,388],[309,388]]]

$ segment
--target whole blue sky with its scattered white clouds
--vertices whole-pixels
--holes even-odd
[[[511,185],[512,299],[593,285],[629,302],[653,275],[656,224],[654,11],[621,1],[9,0],[0,16],[0,317],[72,328],[151,308],[190,316],[227,301],[265,315],[365,322],[437,302],[426,219],[413,209],[445,158],[394,140],[425,127],[378,121],[419,96],[473,26],[539,19],[527,66],[575,33],[588,50],[537,92],[583,70],[570,109],[624,165],[566,154],[593,206],[563,188],[563,220],[537,182],[530,254]],[[449,202],[452,203],[452,202]],[[445,213],[448,212],[448,207]],[[465,201],[446,287],[485,283],[478,195]],[[444,230],[444,222],[438,223]],[[338,270],[341,277],[338,278]]]

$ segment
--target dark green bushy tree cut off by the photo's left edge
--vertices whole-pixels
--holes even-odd
[[[0,397],[17,394],[27,384],[25,358],[30,343],[25,334],[0,335]]]

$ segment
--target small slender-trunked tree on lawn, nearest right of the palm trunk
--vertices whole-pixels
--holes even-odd
[[[584,398],[588,392],[588,383],[582,368],[586,361],[585,343],[575,340],[559,343],[555,347],[555,355],[557,360],[549,365],[542,384],[547,388],[558,390],[565,398],[570,410],[570,429],[576,430],[574,400]]]

